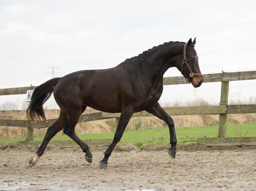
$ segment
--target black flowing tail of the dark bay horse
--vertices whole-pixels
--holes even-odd
[[[53,78],[48,80],[47,82],[41,84],[40,86],[36,87],[32,97],[30,104],[27,108],[27,117],[31,120],[43,120],[46,121],[46,117],[43,111],[43,104],[47,101],[53,89],[60,78]]]

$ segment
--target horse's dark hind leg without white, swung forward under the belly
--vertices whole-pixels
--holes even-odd
[[[84,109],[83,109],[84,110]],[[68,114],[68,124],[65,126],[63,129],[64,133],[67,134],[70,138],[72,138],[85,152],[85,159],[89,162],[92,163],[93,160],[93,155],[89,149],[89,146],[85,144],[75,133],[75,127],[76,124],[78,123],[78,120],[80,118],[81,113],[72,111]]]

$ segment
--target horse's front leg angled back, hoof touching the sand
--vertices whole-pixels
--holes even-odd
[[[116,133],[114,135],[114,139],[113,139],[112,143],[109,145],[108,149],[105,151],[104,158],[102,159],[102,161],[100,161],[101,168],[107,168],[108,158],[110,157],[116,144],[120,141],[120,139],[124,133],[124,130],[129,122],[129,120],[132,117],[132,114],[133,114],[133,107],[122,108],[122,112],[121,112],[120,119],[119,119],[119,122],[117,125]]]

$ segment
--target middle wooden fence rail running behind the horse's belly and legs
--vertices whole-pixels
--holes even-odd
[[[214,105],[214,106],[186,106],[186,107],[163,107],[169,115],[202,115],[202,114],[237,114],[237,113],[255,113],[256,104],[243,105]],[[102,120],[107,118],[120,117],[121,113],[106,113],[94,112],[82,114],[78,123]],[[134,113],[132,117],[150,117],[154,116],[147,111]],[[43,121],[29,121],[18,119],[0,119],[0,126],[11,127],[29,127],[29,128],[44,128],[52,125],[56,119],[48,119]]]

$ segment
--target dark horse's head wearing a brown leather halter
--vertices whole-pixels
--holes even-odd
[[[183,47],[183,54],[179,55],[176,59],[176,66],[185,77],[187,82],[191,82],[192,85],[197,88],[200,87],[203,82],[203,75],[201,74],[197,52],[194,49],[196,44],[196,38],[192,42],[191,39],[185,43]]]

